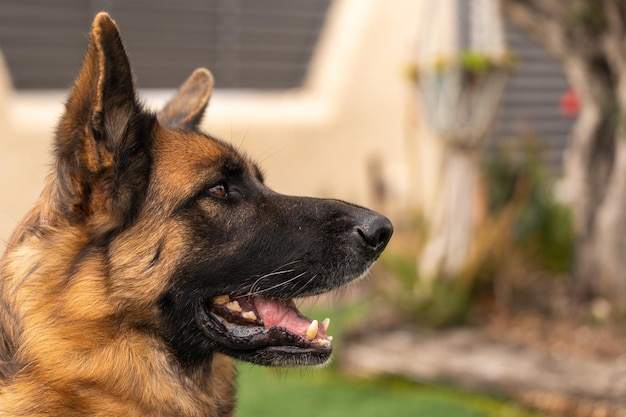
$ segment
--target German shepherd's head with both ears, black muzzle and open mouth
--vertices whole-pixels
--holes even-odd
[[[391,224],[338,200],[270,190],[251,160],[199,131],[212,86],[196,70],[163,110],[145,111],[117,28],[99,14],[42,218],[87,231],[81,262],[104,258],[119,321],[158,334],[182,364],[213,352],[323,363],[328,321],[304,317],[293,299],[362,276]]]

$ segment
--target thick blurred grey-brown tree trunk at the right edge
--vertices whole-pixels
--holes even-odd
[[[563,65],[582,108],[566,156],[579,295],[626,303],[626,4],[502,0]]]

